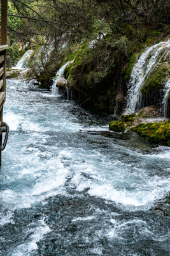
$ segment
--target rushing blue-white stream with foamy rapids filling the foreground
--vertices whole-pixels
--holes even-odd
[[[167,256],[170,148],[47,90],[7,81],[0,255]],[[156,211],[157,209],[157,211]]]

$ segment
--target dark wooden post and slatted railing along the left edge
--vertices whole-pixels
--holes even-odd
[[[8,0],[1,0],[1,45],[0,45],[0,126],[3,124],[3,104],[6,93],[6,49],[7,45]],[[2,132],[0,132],[0,146],[2,147]],[[0,148],[1,148],[0,147]],[[0,166],[1,166],[0,150]]]

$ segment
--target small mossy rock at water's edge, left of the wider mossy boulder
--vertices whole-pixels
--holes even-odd
[[[113,122],[109,123],[110,131],[124,133],[125,129],[127,129],[127,127],[131,127],[132,126],[132,123],[134,122],[134,118],[135,117],[136,117],[136,114],[122,115],[120,120],[113,121]]]

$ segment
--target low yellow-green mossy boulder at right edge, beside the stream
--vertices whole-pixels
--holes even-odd
[[[136,131],[146,140],[170,147],[170,120],[157,123],[138,124],[130,131]]]

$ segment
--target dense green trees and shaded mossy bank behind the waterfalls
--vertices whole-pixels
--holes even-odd
[[[169,10],[164,0],[10,0],[8,67],[33,49],[27,80],[50,88],[74,60],[64,76],[80,104],[122,111],[137,54],[169,35]]]

